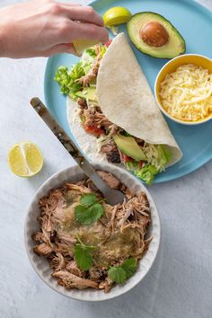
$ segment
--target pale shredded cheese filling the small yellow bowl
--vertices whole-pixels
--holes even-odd
[[[163,108],[173,118],[206,119],[212,113],[212,74],[202,66],[180,66],[165,76],[160,97]]]

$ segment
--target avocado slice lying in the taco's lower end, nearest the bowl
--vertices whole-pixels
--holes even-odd
[[[141,147],[137,145],[134,137],[127,137],[119,134],[115,135],[113,139],[122,153],[137,161],[146,161],[146,155],[143,153]]]

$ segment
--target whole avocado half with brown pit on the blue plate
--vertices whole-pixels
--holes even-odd
[[[172,58],[186,50],[179,31],[162,15],[152,12],[137,13],[127,24],[128,37],[136,48],[158,58]]]

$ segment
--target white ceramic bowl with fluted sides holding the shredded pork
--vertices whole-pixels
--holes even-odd
[[[57,172],[52,177],[50,177],[48,181],[44,182],[44,184],[36,192],[34,199],[32,200],[31,205],[29,207],[28,214],[26,216],[26,251],[28,253],[33,269],[49,287],[53,288],[62,295],[83,301],[107,300],[110,298],[114,298],[116,296],[120,296],[121,294],[126,293],[132,287],[135,287],[137,283],[140,282],[146,276],[146,273],[153,265],[160,243],[159,216],[157,213],[157,209],[155,207],[154,200],[150,196],[149,192],[146,190],[145,186],[130,173],[125,172],[123,169],[120,169],[114,165],[93,163],[93,166],[96,169],[105,172],[111,172],[122,183],[126,184],[133,193],[137,193],[139,191],[146,192],[146,196],[150,203],[152,216],[152,225],[149,226],[148,235],[153,236],[153,240],[149,244],[148,251],[146,252],[144,258],[141,261],[139,261],[136,274],[132,278],[129,278],[124,285],[117,285],[116,287],[113,287],[108,294],[105,294],[102,290],[94,290],[92,288],[84,290],[78,290],[74,288],[66,289],[65,287],[57,285],[57,280],[51,278],[52,269],[50,269],[49,267],[49,262],[45,258],[40,257],[33,252],[33,246],[35,245],[35,242],[31,239],[31,234],[39,230],[39,225],[37,222],[37,216],[40,215],[38,202],[41,197],[48,194],[50,189],[57,188],[64,184],[66,181],[75,182],[82,180],[84,178],[84,172],[82,172],[78,166],[74,166],[62,170],[61,172]]]

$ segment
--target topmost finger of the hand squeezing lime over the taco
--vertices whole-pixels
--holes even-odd
[[[89,22],[104,26],[102,16],[95,12],[92,6],[66,6],[66,14],[73,21]]]

